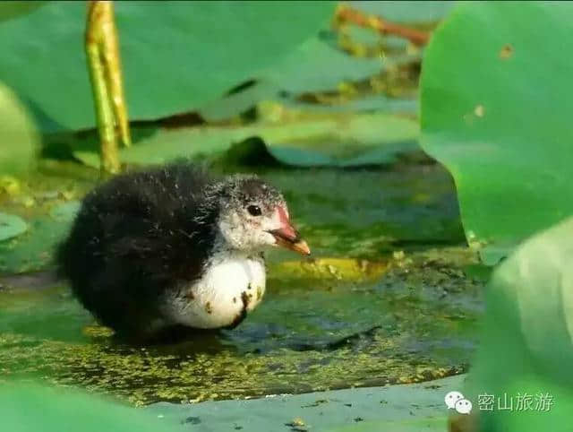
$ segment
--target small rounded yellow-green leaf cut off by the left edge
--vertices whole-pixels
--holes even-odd
[[[39,148],[30,114],[14,92],[0,82],[0,175],[28,170]]]

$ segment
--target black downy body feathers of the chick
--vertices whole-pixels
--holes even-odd
[[[176,163],[115,177],[86,195],[56,261],[102,324],[145,333],[161,317],[166,290],[201,276],[216,236],[213,184]]]

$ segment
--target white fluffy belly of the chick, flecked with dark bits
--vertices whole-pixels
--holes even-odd
[[[265,284],[260,259],[215,260],[199,281],[168,300],[167,314],[175,323],[195,328],[226,327],[261,303]]]

